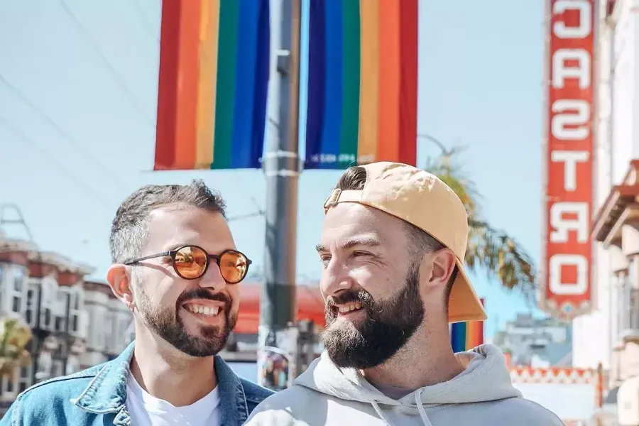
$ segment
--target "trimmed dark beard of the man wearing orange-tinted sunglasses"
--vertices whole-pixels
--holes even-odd
[[[173,345],[175,349],[190,356],[217,355],[224,348],[229,334],[237,323],[237,315],[231,315],[231,300],[222,293],[212,295],[203,288],[197,288],[182,293],[175,303],[175,308],[171,309],[152,305],[151,298],[144,291],[142,284],[138,285],[136,290],[136,305],[147,327]],[[187,333],[178,312],[184,302],[195,298],[226,302],[224,312],[218,314],[224,315],[224,326],[200,327],[200,334],[195,336]]]

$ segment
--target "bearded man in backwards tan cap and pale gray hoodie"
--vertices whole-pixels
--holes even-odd
[[[513,388],[496,346],[452,351],[449,322],[486,312],[463,268],[464,204],[442,180],[356,166],[324,211],[325,350],[247,425],[562,425]]]

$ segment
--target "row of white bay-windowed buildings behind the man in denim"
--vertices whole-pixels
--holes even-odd
[[[113,358],[131,342],[131,313],[94,269],[0,232],[0,316],[31,327],[31,364],[0,377],[0,415],[18,393]]]

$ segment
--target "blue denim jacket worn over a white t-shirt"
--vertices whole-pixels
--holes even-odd
[[[38,383],[18,395],[0,426],[131,426],[126,410],[126,378],[133,343],[113,361]],[[240,426],[273,392],[239,378],[215,357],[222,425]]]

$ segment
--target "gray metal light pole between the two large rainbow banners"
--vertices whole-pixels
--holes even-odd
[[[284,388],[295,378],[295,261],[300,87],[300,0],[271,1],[271,81],[268,88],[265,285],[260,297],[258,383]],[[273,70],[273,66],[275,70]],[[274,367],[274,368],[273,368]],[[283,373],[283,374],[282,374]]]

